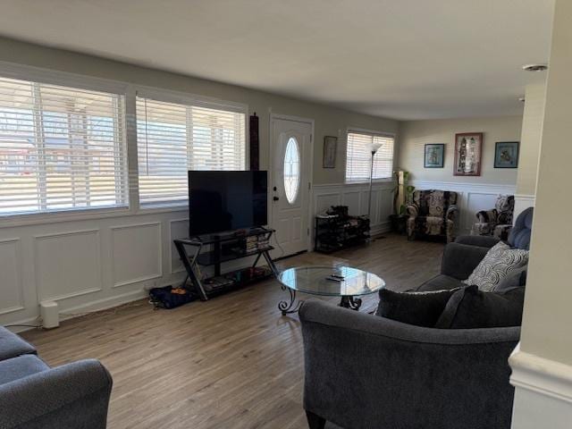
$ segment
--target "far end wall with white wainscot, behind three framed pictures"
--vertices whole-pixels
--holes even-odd
[[[459,194],[458,233],[467,234],[475,223],[475,213],[490,209],[499,194],[514,194],[517,169],[494,168],[497,141],[518,141],[522,117],[468,118],[400,123],[397,164],[411,172],[411,184],[417,189],[454,190]],[[481,176],[454,176],[455,134],[484,132]],[[444,143],[443,168],[425,168],[425,144]]]

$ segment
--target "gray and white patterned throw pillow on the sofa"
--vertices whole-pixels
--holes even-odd
[[[527,264],[528,250],[510,248],[499,241],[463,283],[475,284],[479,290],[494,291],[505,277]]]

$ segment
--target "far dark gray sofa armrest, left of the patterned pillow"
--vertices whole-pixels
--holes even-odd
[[[480,246],[449,243],[443,250],[441,273],[458,280],[467,280],[488,251],[488,248]]]

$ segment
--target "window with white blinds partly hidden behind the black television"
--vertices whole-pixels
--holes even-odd
[[[189,170],[244,170],[246,115],[137,97],[139,205],[186,204]]]

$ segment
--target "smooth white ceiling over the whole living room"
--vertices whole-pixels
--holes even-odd
[[[396,119],[521,114],[554,0],[2,0],[0,34]]]

